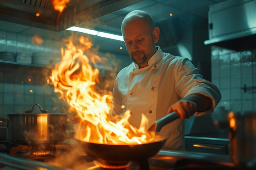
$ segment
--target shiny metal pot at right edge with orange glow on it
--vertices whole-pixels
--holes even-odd
[[[256,167],[256,112],[230,112],[231,159],[238,166]]]

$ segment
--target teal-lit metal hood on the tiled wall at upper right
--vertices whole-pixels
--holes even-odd
[[[256,0],[229,0],[209,7],[209,40],[236,51],[256,48]]]

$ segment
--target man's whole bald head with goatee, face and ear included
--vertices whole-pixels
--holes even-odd
[[[122,35],[132,60],[139,68],[148,66],[159,40],[159,28],[155,27],[150,14],[140,10],[128,13],[122,22]]]

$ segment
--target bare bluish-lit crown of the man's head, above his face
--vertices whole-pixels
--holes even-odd
[[[137,19],[142,19],[145,21],[145,24],[147,24],[147,26],[149,27],[150,30],[155,29],[155,24],[153,22],[153,19],[151,17],[151,15],[145,11],[141,11],[141,10],[135,10],[132,11],[130,13],[128,13],[123,22],[122,22],[122,33],[124,30],[124,27],[129,24],[130,22],[133,22]]]

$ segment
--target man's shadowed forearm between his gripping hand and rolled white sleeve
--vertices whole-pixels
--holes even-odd
[[[204,110],[208,110],[212,104],[210,97],[206,97],[201,94],[189,95],[184,97],[183,99],[194,102],[197,105],[197,108],[196,108],[197,112],[203,112]]]

